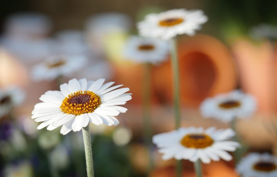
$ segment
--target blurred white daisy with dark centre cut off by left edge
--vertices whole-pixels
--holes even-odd
[[[0,90],[0,118],[8,114],[14,106],[20,105],[24,98],[24,92],[17,87]]]

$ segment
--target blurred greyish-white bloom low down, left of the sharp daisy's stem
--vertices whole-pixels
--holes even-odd
[[[59,145],[50,154],[51,163],[60,169],[64,169],[69,164],[69,155],[66,147]]]

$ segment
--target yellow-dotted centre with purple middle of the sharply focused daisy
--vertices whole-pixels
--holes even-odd
[[[64,113],[81,115],[93,112],[100,104],[100,96],[92,91],[81,90],[65,97],[60,108]]]

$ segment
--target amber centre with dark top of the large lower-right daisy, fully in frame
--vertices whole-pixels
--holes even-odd
[[[214,143],[212,138],[206,134],[188,134],[181,140],[181,144],[187,148],[206,148]]]

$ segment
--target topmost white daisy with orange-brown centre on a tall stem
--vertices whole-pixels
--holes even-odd
[[[182,34],[193,36],[195,30],[200,30],[201,24],[207,20],[202,10],[172,9],[146,15],[137,27],[141,36],[169,40]]]

